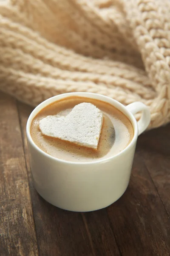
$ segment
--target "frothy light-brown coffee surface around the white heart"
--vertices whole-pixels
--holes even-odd
[[[85,148],[57,138],[43,136],[39,122],[48,115],[66,116],[75,105],[88,102],[103,112],[102,132],[97,150]],[[109,103],[79,96],[71,96],[43,108],[31,123],[31,137],[34,143],[47,154],[62,160],[87,162],[102,160],[122,151],[133,139],[133,126],[121,111]]]

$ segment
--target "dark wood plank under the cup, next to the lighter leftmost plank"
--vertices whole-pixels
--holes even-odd
[[[30,169],[25,130],[32,108],[22,103],[18,103],[18,108],[23,128],[26,161]],[[58,209],[37,194],[32,185],[31,175],[29,182],[40,255],[105,256],[106,253],[108,256],[120,255],[106,210],[81,214]]]

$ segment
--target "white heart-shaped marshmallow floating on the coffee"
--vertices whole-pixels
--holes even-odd
[[[102,122],[103,114],[99,108],[83,102],[67,116],[46,116],[39,126],[43,135],[97,149]]]

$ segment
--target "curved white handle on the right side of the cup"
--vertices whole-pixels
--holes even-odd
[[[126,106],[127,110],[130,111],[133,115],[142,111],[142,116],[139,119],[138,123],[138,135],[142,134],[146,130],[147,126],[150,123],[150,110],[142,102],[133,102]]]

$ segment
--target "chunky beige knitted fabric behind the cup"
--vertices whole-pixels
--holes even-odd
[[[0,2],[0,90],[33,106],[100,93],[169,122],[170,0]]]

